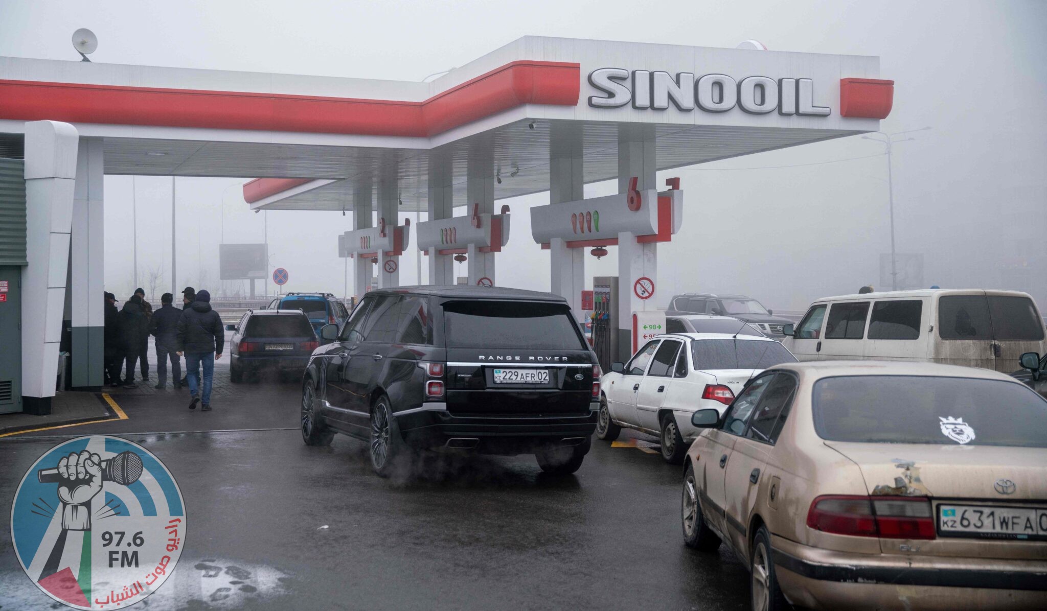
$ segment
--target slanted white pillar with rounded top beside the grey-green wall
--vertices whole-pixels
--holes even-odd
[[[69,123],[25,123],[22,405],[30,413],[50,413],[54,397],[79,139]]]

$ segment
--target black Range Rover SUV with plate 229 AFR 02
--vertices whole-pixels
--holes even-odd
[[[534,454],[573,473],[589,450],[600,370],[566,301],[485,287],[372,291],[306,368],[302,435],[366,440],[387,476],[411,452]]]

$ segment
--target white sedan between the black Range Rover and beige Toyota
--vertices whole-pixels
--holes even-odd
[[[698,430],[691,414],[727,409],[763,369],[796,358],[780,343],[753,335],[674,333],[650,340],[601,379],[596,434],[614,442],[622,427],[662,439],[662,457],[681,465]]]

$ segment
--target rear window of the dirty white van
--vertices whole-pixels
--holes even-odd
[[[1028,297],[946,295],[938,299],[942,339],[1040,341],[1044,323]]]

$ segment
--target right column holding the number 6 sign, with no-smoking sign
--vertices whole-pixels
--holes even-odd
[[[629,179],[637,177],[637,189],[656,189],[655,144],[652,126],[619,126],[618,132],[618,193],[629,189]],[[658,202],[643,202],[643,206],[656,206]],[[640,278],[649,278],[654,295],[648,299],[637,296],[634,286]],[[624,362],[631,355],[632,312],[655,310],[658,299],[658,245],[639,244],[636,235],[622,232],[618,235],[618,360]]]

